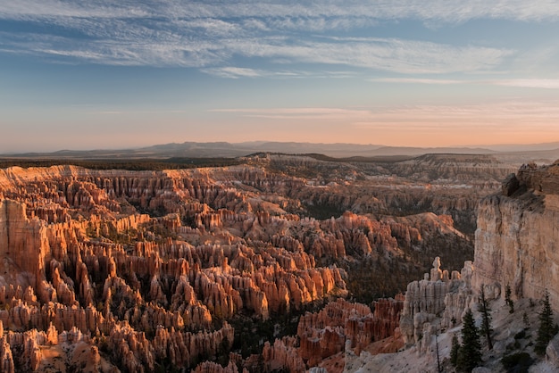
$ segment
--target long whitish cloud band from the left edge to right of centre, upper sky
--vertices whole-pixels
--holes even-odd
[[[399,73],[447,73],[490,70],[513,54],[487,47],[455,47],[401,39],[291,41],[285,38],[221,38],[188,40],[164,35],[157,40],[121,37],[120,40],[83,41],[38,34],[34,42],[4,33],[3,49],[44,57],[69,57],[81,62],[113,65],[209,67],[230,64],[233,56],[285,62],[350,66]],[[71,62],[71,61],[70,61]],[[229,71],[228,71],[229,69]],[[234,72],[231,69],[237,69]],[[222,76],[255,76],[249,69],[208,69]]]

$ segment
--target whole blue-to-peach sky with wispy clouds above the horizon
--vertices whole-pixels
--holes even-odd
[[[0,0],[0,153],[559,141],[555,0]]]

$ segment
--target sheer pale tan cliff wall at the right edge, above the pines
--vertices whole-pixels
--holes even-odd
[[[534,299],[547,288],[559,310],[558,221],[559,164],[521,167],[480,203],[474,288],[509,285],[513,297]]]

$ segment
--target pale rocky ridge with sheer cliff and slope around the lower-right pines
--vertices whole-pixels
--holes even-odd
[[[555,321],[559,312],[556,294],[556,196],[559,163],[538,167],[523,165],[503,183],[502,191],[480,202],[473,263],[462,271],[440,268],[438,258],[430,273],[409,284],[400,318],[400,332],[407,348],[395,354],[357,354],[347,350],[346,372],[455,371],[449,362],[452,337],[460,336],[464,311],[477,309],[483,287],[489,302],[494,332],[493,349],[482,342],[482,362],[476,372],[505,372],[501,359],[520,352],[530,356],[530,372],[556,372],[559,336],[546,347],[545,356],[534,352],[538,330],[535,300],[549,292]],[[505,286],[512,289],[514,311],[505,304]],[[539,306],[538,306],[539,307]]]

